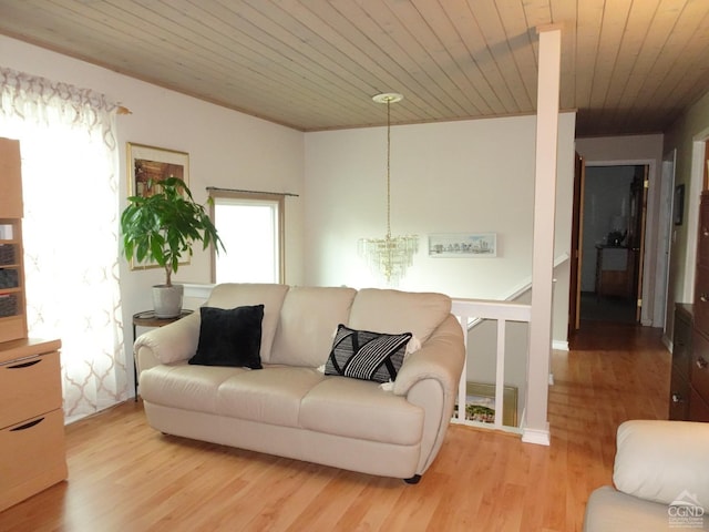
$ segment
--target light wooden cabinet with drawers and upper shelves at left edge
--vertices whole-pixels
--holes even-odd
[[[0,511],[66,479],[60,340],[28,339],[20,145],[0,139]]]

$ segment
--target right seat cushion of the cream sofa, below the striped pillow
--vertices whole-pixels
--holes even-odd
[[[423,409],[377,382],[323,377],[302,399],[304,429],[401,446],[421,442]]]

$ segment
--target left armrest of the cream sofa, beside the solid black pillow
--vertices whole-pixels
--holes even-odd
[[[177,362],[192,357],[199,342],[199,313],[193,313],[138,336],[133,344],[138,371],[155,364]]]

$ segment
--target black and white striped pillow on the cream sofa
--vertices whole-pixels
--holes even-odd
[[[389,382],[397,379],[411,332],[387,335],[340,324],[325,365],[325,375]]]

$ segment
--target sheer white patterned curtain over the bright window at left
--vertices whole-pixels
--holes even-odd
[[[68,421],[127,397],[119,289],[116,105],[0,68],[0,136],[20,140],[29,336],[62,340]]]

